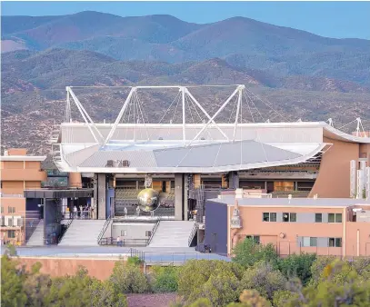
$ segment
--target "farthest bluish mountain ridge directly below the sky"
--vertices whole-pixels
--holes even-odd
[[[218,57],[235,67],[370,84],[370,41],[334,39],[234,17],[207,25],[170,15],[120,17],[97,12],[5,16],[3,52],[59,47],[115,60],[185,63]]]

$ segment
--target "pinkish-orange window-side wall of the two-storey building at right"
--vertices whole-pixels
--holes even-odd
[[[215,207],[216,208],[216,207]],[[234,206],[228,206],[228,227]],[[254,207],[239,206],[242,228],[228,231],[228,253],[246,236],[258,236],[263,244],[273,243],[280,255],[292,253],[333,254],[337,256],[370,256],[370,223],[351,220],[345,208]],[[263,213],[276,213],[276,222],[264,222]],[[283,213],[296,213],[297,222],[280,222]],[[315,213],[323,213],[323,223],[315,223]],[[342,223],[327,223],[328,213],[342,213]],[[206,219],[206,225],[210,220]],[[206,226],[206,227],[207,227]],[[303,237],[317,238],[318,246],[303,246]],[[342,247],[329,247],[329,238],[341,238]]]

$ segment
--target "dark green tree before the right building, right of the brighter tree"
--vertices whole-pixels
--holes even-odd
[[[278,267],[286,279],[298,277],[303,284],[306,284],[311,279],[311,267],[315,260],[316,255],[314,253],[292,254],[280,259]]]

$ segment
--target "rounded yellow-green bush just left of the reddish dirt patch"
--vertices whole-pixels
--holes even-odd
[[[110,281],[119,293],[143,293],[149,290],[149,283],[139,265],[115,262]]]

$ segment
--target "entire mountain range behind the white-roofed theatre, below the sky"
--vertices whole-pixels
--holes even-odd
[[[370,124],[368,40],[245,17],[196,25],[170,15],[81,12],[3,16],[1,23],[2,149],[47,153],[66,85],[245,84],[289,119],[347,124],[360,116]],[[79,97],[92,117],[112,120],[118,98],[103,92]],[[165,106],[158,97],[145,97],[152,114]]]

